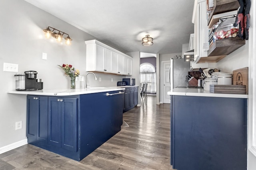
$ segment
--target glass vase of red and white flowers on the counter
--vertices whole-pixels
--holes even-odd
[[[58,65],[60,66],[60,65]],[[76,88],[76,77],[79,76],[80,72],[78,69],[75,69],[74,67],[72,67],[72,65],[70,64],[62,64],[62,66],[60,66],[62,68],[62,70],[64,70],[64,74],[66,76],[70,76],[70,88],[74,89]]]

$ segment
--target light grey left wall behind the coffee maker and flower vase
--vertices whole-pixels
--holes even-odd
[[[20,73],[36,70],[37,78],[44,82],[44,89],[70,88],[70,78],[64,76],[64,71],[57,65],[72,64],[80,70],[81,75],[86,74],[84,41],[95,37],[23,0],[1,0],[0,16],[0,70],[3,70],[3,63],[19,64]],[[44,38],[42,29],[48,26],[68,33],[73,39],[72,45],[62,45]],[[47,53],[47,60],[42,60],[42,53]],[[14,74],[3,71],[0,74],[0,150],[26,139],[26,95],[7,94],[15,90]],[[125,77],[103,73],[96,75],[102,78],[102,82],[94,81],[89,74],[88,83],[91,86],[116,86],[116,82]],[[84,82],[77,82],[76,86],[82,87]],[[16,121],[22,121],[22,129],[15,130]]]

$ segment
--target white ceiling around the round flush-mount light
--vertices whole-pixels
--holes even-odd
[[[124,53],[181,53],[194,33],[194,0],[25,1]],[[154,44],[145,47],[141,43],[147,34]]]

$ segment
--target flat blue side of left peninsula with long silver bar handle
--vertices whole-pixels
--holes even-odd
[[[90,154],[121,130],[122,94],[106,96],[106,93],[80,95],[78,121],[81,158]]]

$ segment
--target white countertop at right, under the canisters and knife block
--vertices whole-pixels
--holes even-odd
[[[248,98],[248,94],[218,94],[210,93],[202,88],[174,88],[170,90],[168,95],[177,96],[204,96],[204,97],[220,97],[220,98]]]

